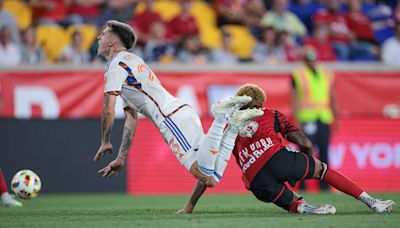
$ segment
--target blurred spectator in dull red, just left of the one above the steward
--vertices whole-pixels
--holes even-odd
[[[285,51],[287,62],[296,62],[302,59],[303,52],[297,46],[293,37],[286,31],[281,31],[278,33],[278,45],[281,45]]]

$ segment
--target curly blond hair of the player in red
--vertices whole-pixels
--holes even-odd
[[[267,96],[265,95],[264,90],[255,84],[244,84],[236,92],[236,96],[244,95],[251,97],[252,101],[246,106],[243,106],[241,109],[261,108],[262,104],[267,100]]]

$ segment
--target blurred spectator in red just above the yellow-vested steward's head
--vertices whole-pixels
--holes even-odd
[[[329,40],[329,28],[326,24],[316,25],[313,30],[313,36],[304,39],[303,45],[304,47],[312,47],[321,62],[336,61],[335,52]]]

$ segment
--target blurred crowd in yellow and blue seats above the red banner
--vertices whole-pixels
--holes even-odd
[[[148,62],[400,64],[398,0],[0,0],[0,66],[90,64],[107,20],[129,23]]]

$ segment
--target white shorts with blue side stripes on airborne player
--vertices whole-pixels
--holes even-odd
[[[175,157],[190,171],[197,160],[198,145],[204,136],[197,113],[189,106],[183,107],[165,118],[159,129]]]

